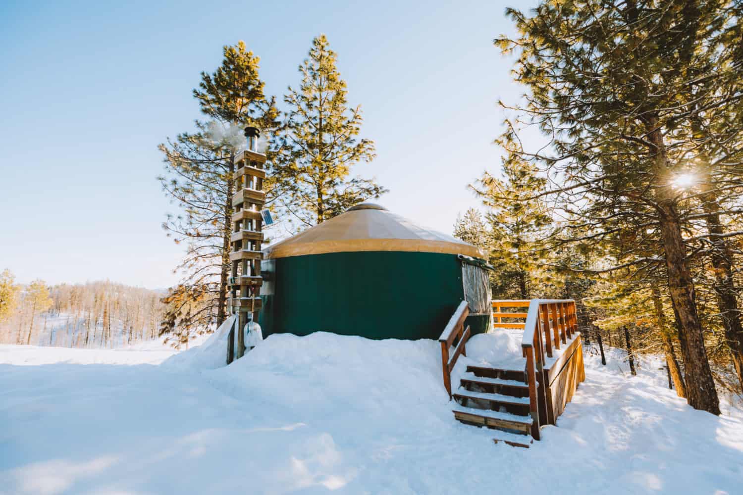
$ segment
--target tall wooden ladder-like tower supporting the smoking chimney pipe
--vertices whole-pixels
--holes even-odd
[[[233,234],[230,237],[232,251],[232,276],[230,277],[230,312],[236,316],[235,327],[230,330],[227,344],[227,364],[233,355],[241,358],[245,352],[242,329],[247,324],[248,313],[253,321],[258,321],[261,310],[261,243],[263,242],[261,210],[266,202],[263,180],[266,178],[266,155],[257,149],[259,131],[249,126],[245,128],[247,148],[240,151],[235,159],[235,194],[232,197]],[[237,331],[237,349],[235,332]]]

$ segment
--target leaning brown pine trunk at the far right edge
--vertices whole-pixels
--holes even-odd
[[[738,375],[738,381],[743,391],[743,326],[741,324],[740,311],[738,309],[738,297],[733,281],[733,267],[728,246],[724,237],[724,229],[720,221],[720,206],[717,202],[715,192],[711,189],[710,177],[705,177],[701,183],[703,191],[702,208],[706,214],[707,230],[712,235],[710,241],[713,244],[712,266],[715,274],[714,289],[722,318],[722,327],[725,330],[727,345],[730,347],[730,355]]]

